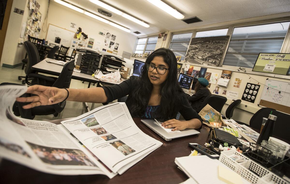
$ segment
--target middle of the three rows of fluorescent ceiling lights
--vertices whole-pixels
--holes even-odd
[[[105,8],[105,9],[107,9],[107,10],[109,10],[109,11],[115,13],[115,14],[121,15],[122,17],[124,17],[124,18],[126,18],[126,19],[128,19],[130,21],[133,21],[133,22],[135,22],[137,24],[140,24],[140,25],[142,25],[142,26],[144,26],[146,28],[150,27],[150,25],[146,24],[145,22],[142,22],[142,21],[140,21],[140,20],[138,20],[138,19],[126,14],[126,13],[123,13],[120,10],[117,10],[116,8],[113,8],[112,6],[109,6],[109,5],[103,3],[103,2],[101,2],[99,0],[89,0],[89,1],[92,2],[92,3],[95,3],[98,6],[101,6],[102,8]]]

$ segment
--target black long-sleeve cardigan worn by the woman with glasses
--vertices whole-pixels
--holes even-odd
[[[132,104],[131,104],[129,99],[132,96],[133,90],[135,90],[135,88],[137,87],[137,83],[139,81],[138,78],[139,77],[130,77],[130,79],[127,79],[126,81],[123,81],[120,84],[102,87],[105,91],[106,96],[108,97],[107,103],[128,95],[128,98],[126,100],[126,105],[127,105],[128,109],[131,109]],[[182,92],[180,92],[179,95],[183,96]],[[180,112],[180,114],[182,114],[184,119],[187,121],[191,120],[191,119],[199,119],[202,122],[200,115],[197,114],[197,112],[191,108],[186,97],[181,98],[181,99],[182,100],[179,102],[179,104],[176,104],[176,107],[177,107],[176,109],[178,110],[177,112]],[[168,100],[170,100],[170,99],[168,99]],[[145,109],[144,109],[144,111],[145,111]],[[177,114],[177,112],[176,112],[176,114]],[[152,117],[152,118],[154,118],[154,117]],[[175,117],[169,117],[169,118],[174,119]]]

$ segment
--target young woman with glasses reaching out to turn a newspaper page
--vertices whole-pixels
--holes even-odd
[[[140,77],[131,76],[120,84],[102,88],[59,89],[41,85],[28,88],[36,94],[17,98],[19,102],[32,102],[23,108],[51,105],[61,101],[108,103],[128,95],[126,105],[133,117],[164,121],[162,126],[174,130],[198,129],[201,117],[191,108],[185,93],[177,82],[177,62],[174,53],[166,48],[152,52],[146,59]],[[186,121],[174,119],[180,112]]]

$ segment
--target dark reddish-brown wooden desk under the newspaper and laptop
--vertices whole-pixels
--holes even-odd
[[[175,157],[188,156],[191,153],[193,149],[188,143],[204,146],[209,139],[209,127],[202,125],[199,135],[167,142],[141,123],[140,118],[133,119],[144,133],[161,141],[163,145],[122,175],[112,179],[105,175],[59,176],[3,160],[0,165],[0,183],[181,183],[188,179],[174,163]]]

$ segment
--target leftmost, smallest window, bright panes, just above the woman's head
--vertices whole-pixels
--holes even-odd
[[[134,53],[143,54],[155,50],[158,37],[139,38]]]

